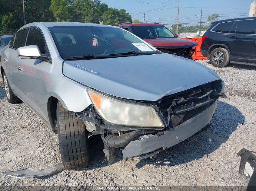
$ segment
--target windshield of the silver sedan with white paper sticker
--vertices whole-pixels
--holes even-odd
[[[143,41],[115,27],[48,27],[62,59],[157,54]]]

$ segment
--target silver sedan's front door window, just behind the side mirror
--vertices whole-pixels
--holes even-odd
[[[36,28],[29,29],[26,46],[29,46],[29,45],[37,45],[41,54],[48,53],[44,37],[42,33]]]

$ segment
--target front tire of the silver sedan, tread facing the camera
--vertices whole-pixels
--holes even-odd
[[[67,170],[89,164],[88,136],[84,122],[57,104],[57,129],[62,162]]]

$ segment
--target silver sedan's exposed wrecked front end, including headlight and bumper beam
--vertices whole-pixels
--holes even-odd
[[[73,112],[90,135],[100,134],[106,161],[115,161],[115,148],[123,158],[154,156],[199,132],[210,122],[224,83],[212,81],[158,101],[126,100],[88,88],[92,104]]]

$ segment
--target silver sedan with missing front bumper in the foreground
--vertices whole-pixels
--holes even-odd
[[[156,155],[203,129],[226,97],[213,70],[101,24],[27,24],[0,67],[7,100],[58,134],[66,169],[88,165],[96,137],[109,164],[116,148],[124,158]]]

